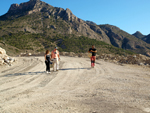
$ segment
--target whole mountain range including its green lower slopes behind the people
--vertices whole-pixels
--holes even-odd
[[[114,53],[122,51],[116,47],[142,54],[150,52],[150,44],[116,26],[84,21],[68,8],[53,7],[40,0],[12,4],[0,16],[0,40],[4,39],[26,51],[43,51],[57,45],[61,51],[87,52],[95,44],[100,53],[110,53],[111,48]]]

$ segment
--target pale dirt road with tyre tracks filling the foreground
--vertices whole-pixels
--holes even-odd
[[[150,68],[63,56],[47,74],[44,57],[17,59],[0,69],[0,113],[150,113]]]

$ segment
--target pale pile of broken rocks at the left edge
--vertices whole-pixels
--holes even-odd
[[[0,66],[9,65],[11,66],[13,62],[16,60],[14,58],[9,57],[6,54],[6,51],[0,47]]]

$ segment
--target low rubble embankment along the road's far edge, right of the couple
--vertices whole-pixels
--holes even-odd
[[[60,55],[70,56],[70,57],[88,57],[88,53],[73,53],[73,52],[61,52]],[[105,61],[110,61],[117,64],[135,64],[141,66],[150,66],[150,57],[145,55],[136,54],[128,56],[119,56],[112,54],[101,54],[97,55],[96,59],[104,59]]]

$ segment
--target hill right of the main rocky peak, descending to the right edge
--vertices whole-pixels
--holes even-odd
[[[107,36],[110,38],[112,45],[132,50],[136,53],[148,55],[150,45],[141,39],[136,38],[133,35],[121,30],[120,28],[112,25],[99,25],[99,27],[105,31]]]

